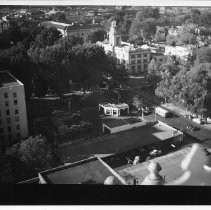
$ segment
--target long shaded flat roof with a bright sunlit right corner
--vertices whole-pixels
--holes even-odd
[[[57,155],[64,162],[74,162],[90,157],[91,154],[117,154],[173,137],[172,131],[175,129],[158,124],[160,123],[103,135],[89,142],[85,141],[84,144],[77,145],[75,148],[71,146],[58,148]]]

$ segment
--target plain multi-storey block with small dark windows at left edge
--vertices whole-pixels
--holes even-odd
[[[8,71],[0,72],[0,147],[28,136],[24,85]]]

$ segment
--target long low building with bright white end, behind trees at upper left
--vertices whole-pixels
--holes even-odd
[[[100,28],[103,28],[100,24],[66,24],[61,22],[55,22],[55,21],[43,21],[40,23],[40,25],[43,25],[45,27],[54,27],[57,30],[59,30],[63,37],[70,36],[70,35],[77,35],[84,39],[84,41],[88,41],[89,35]]]

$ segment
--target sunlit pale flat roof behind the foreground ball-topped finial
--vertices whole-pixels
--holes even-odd
[[[165,176],[166,183],[174,181],[183,174],[181,162],[190,150],[190,147],[186,147],[176,152],[153,159],[153,161],[156,161],[161,165],[162,170],[160,171],[160,174]],[[133,180],[137,179],[138,183],[141,184],[145,177],[149,174],[147,169],[149,164],[150,161],[147,161],[138,165],[131,165],[120,170],[116,169],[116,171],[126,180],[126,182],[132,184]]]

